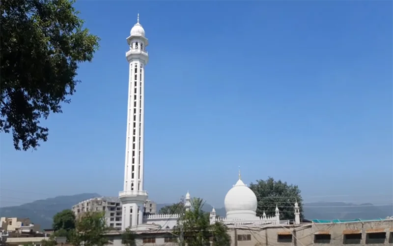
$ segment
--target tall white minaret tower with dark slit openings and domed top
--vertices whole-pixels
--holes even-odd
[[[145,50],[149,44],[139,23],[131,29],[127,38],[130,49],[126,52],[129,62],[127,106],[127,137],[124,166],[124,188],[119,192],[123,204],[121,229],[142,223],[147,192],[143,190],[143,113],[144,113],[144,66],[149,60]]]

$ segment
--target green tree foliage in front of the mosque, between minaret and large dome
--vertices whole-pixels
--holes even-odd
[[[194,198],[191,200],[192,209],[182,213],[178,226],[174,230],[176,235],[180,235],[180,225],[182,224],[184,241],[179,241],[179,245],[207,246],[210,245],[211,236],[214,246],[230,245],[230,236],[226,226],[219,222],[210,225],[209,213],[202,211],[203,204],[203,199]]]

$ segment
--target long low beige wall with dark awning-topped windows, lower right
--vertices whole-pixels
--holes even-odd
[[[370,230],[371,229],[371,230]],[[370,231],[378,230],[385,233],[386,239],[382,242],[378,239],[372,239]],[[292,233],[290,233],[292,231]],[[265,228],[232,228],[229,233],[232,238],[232,246],[327,246],[327,245],[348,245],[344,244],[345,236],[343,233],[359,231],[361,233],[360,240],[352,241],[351,245],[389,245],[393,242],[393,220],[383,221],[365,221],[365,222],[348,222],[348,223],[329,223],[329,224],[308,224],[300,226],[271,226]],[[289,235],[284,235],[289,234]],[[315,235],[330,234],[330,241],[315,241]],[[238,241],[239,235],[245,240]],[[250,235],[250,236],[247,236]],[[292,237],[291,237],[292,235]],[[318,237],[318,236],[317,236]],[[323,236],[322,236],[323,237]],[[251,239],[251,240],[248,240]],[[237,241],[237,242],[236,242]]]

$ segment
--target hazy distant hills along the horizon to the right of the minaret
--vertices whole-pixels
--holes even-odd
[[[157,211],[170,204],[157,204]],[[374,206],[371,203],[353,204],[343,202],[317,202],[305,203],[304,215],[308,219],[374,219],[386,218],[393,215],[393,204],[385,206]],[[213,207],[205,203],[203,211],[210,212]],[[225,216],[225,208],[215,208],[216,214]]]

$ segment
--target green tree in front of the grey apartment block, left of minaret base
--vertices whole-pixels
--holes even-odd
[[[102,212],[86,212],[79,217],[75,230],[70,235],[74,246],[103,246],[108,243],[105,237],[107,225]]]

